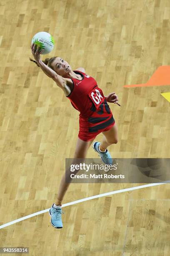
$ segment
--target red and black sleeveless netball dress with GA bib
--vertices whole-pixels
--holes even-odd
[[[71,78],[74,87],[67,97],[80,112],[78,137],[82,141],[91,141],[102,131],[110,130],[115,120],[96,80],[81,71],[74,72],[80,74],[82,80]]]

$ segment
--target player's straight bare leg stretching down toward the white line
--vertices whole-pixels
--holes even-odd
[[[80,138],[77,139],[77,145],[75,148],[75,154],[74,154],[74,159],[76,158],[85,158],[87,155],[87,150],[90,147],[94,140],[92,141],[82,141]],[[67,170],[70,171],[70,170]],[[66,171],[66,172],[67,172]],[[58,189],[58,195],[57,195],[57,201],[55,202],[55,205],[61,206],[62,205],[62,200],[63,197],[69,187],[70,183],[65,182],[65,174],[63,174],[61,182],[60,182],[60,187]]]

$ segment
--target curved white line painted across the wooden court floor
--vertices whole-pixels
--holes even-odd
[[[70,202],[70,203],[66,203],[64,205],[62,205],[62,207],[65,207],[65,206],[68,206],[68,205],[75,205],[75,204],[78,204],[80,202],[85,202],[87,200],[92,200],[92,199],[95,199],[95,198],[99,198],[99,197],[105,197],[107,195],[114,195],[114,194],[118,194],[118,193],[122,193],[122,192],[127,192],[127,191],[132,191],[132,190],[135,190],[135,189],[141,189],[141,188],[144,188],[144,187],[153,187],[153,186],[158,186],[158,185],[162,185],[162,184],[165,184],[165,183],[170,183],[170,181],[165,181],[165,182],[161,182],[161,183],[152,183],[152,184],[146,184],[146,185],[142,185],[142,186],[138,186],[138,187],[129,187],[129,188],[126,188],[126,189],[120,189],[120,190],[116,190],[116,191],[112,191],[112,192],[107,192],[107,193],[104,193],[104,194],[100,194],[100,195],[95,195],[95,196],[92,196],[92,197],[86,197],[86,198],[82,198],[80,200],[76,200],[74,202]],[[12,224],[15,224],[17,222],[20,222],[22,220],[26,220],[28,218],[31,218],[31,217],[34,217],[36,215],[39,215],[39,214],[42,214],[42,213],[45,213],[45,212],[48,212],[50,210],[50,208],[46,209],[46,210],[42,210],[40,212],[35,212],[35,213],[32,213],[30,215],[27,215],[25,217],[22,217],[20,219],[17,219],[17,220],[13,220],[13,221],[10,221],[6,224],[3,224],[0,226],[0,229],[1,228],[5,228],[7,226],[10,226]]]

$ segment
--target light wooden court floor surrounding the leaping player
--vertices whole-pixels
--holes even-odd
[[[79,113],[29,60],[40,31],[56,43],[42,59],[61,56],[73,70],[84,67],[104,95],[116,92],[113,158],[170,158],[170,102],[161,95],[170,85],[123,87],[170,65],[169,0],[1,0],[0,225],[50,208],[75,151]],[[87,158],[95,157],[91,147]],[[139,185],[71,184],[63,203]],[[29,247],[31,256],[170,255],[169,184],[63,211],[59,230],[48,213],[0,229],[0,247]]]

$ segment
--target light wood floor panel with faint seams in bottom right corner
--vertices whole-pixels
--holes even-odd
[[[169,255],[170,201],[130,200],[125,255]]]

